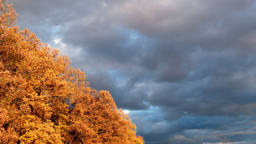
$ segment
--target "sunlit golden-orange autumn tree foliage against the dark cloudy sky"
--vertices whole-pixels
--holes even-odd
[[[0,0],[0,143],[144,143],[108,91],[15,25]]]

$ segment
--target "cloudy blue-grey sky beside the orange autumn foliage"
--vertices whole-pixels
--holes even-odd
[[[9,0],[28,28],[109,90],[145,143],[256,142],[251,0]]]

